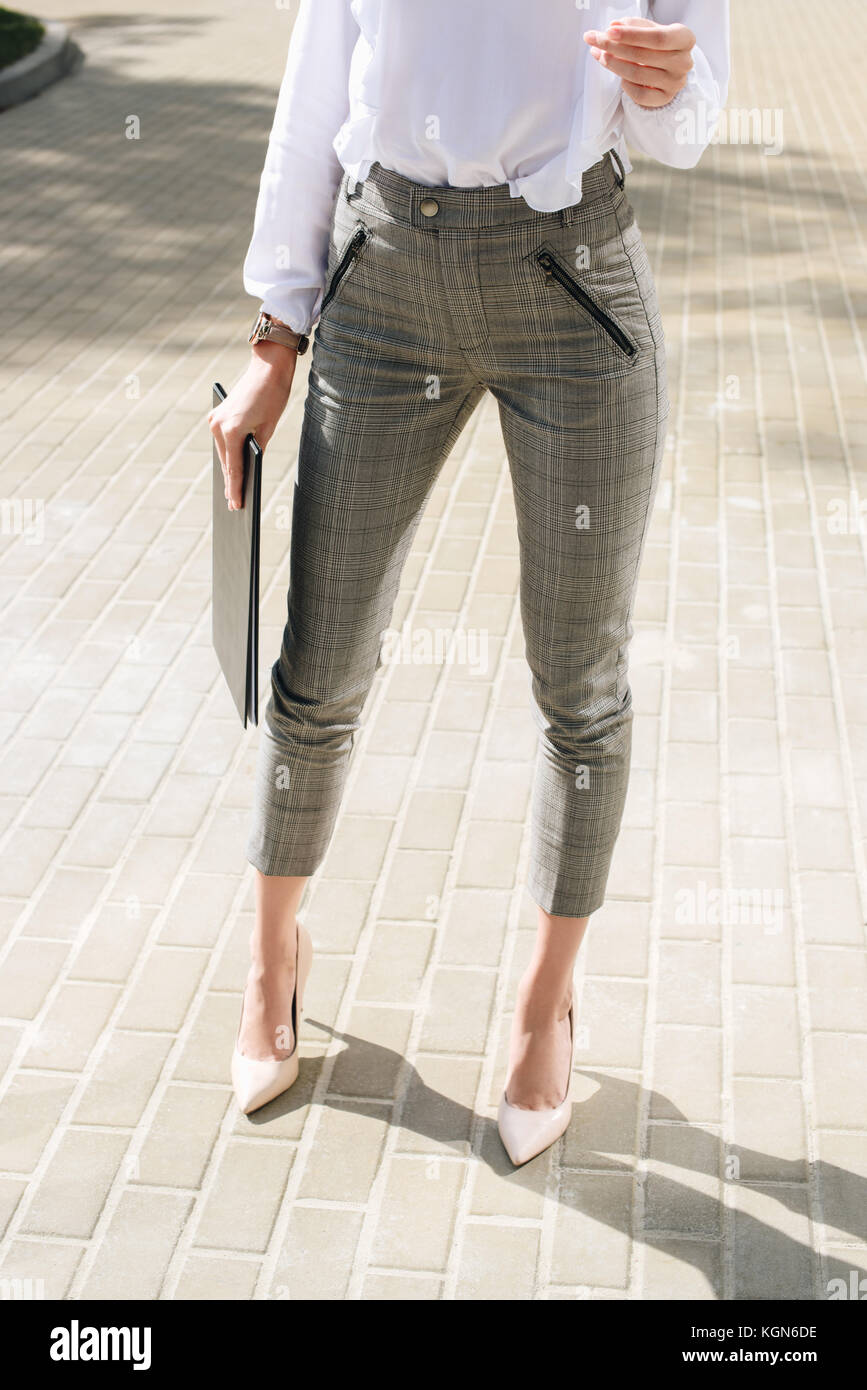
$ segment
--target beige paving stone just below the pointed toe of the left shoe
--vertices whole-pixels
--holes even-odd
[[[196,1244],[264,1254],[293,1156],[286,1144],[233,1138],[208,1191]]]

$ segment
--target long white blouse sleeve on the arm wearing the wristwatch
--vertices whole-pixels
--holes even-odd
[[[342,164],[333,139],[349,113],[349,64],[358,38],[350,0],[302,0],[265,165],[243,285],[296,332],[318,314]]]

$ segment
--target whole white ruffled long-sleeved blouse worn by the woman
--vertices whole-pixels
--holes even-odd
[[[582,35],[643,15],[696,35],[664,107],[638,106]],[[296,332],[318,317],[343,171],[509,183],[554,211],[627,140],[691,168],[728,90],[728,0],[300,0],[258,189],[245,289]]]

